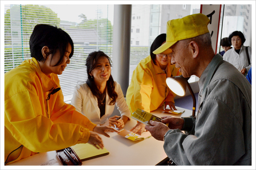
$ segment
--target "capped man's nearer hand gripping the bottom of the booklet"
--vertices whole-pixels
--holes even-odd
[[[145,129],[150,131],[152,137],[157,139],[158,141],[164,141],[164,135],[168,130],[170,130],[169,127],[167,127],[164,123],[156,122],[156,121],[150,121],[152,126],[146,125]]]

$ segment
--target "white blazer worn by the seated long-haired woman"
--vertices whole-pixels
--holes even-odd
[[[124,99],[120,84],[116,83],[115,91],[118,94],[116,99],[116,106],[120,111],[121,116],[125,115],[130,118],[130,110]],[[76,107],[76,111],[85,115],[90,121],[95,124],[103,124],[112,115],[114,111],[114,105],[110,105],[111,99],[108,96],[106,90],[106,107],[105,115],[100,117],[100,109],[98,107],[98,99],[92,94],[89,86],[86,83],[78,84],[75,86],[73,98],[71,99],[71,105]]]

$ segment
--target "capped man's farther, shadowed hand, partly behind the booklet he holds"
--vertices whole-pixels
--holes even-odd
[[[180,117],[164,116],[162,117],[162,123],[169,123],[170,129],[182,129],[184,125],[184,119]]]

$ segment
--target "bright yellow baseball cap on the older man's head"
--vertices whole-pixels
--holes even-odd
[[[177,41],[197,37],[208,33],[207,25],[210,20],[204,14],[192,14],[180,19],[167,22],[166,43],[158,47],[154,54],[160,54],[174,45]]]

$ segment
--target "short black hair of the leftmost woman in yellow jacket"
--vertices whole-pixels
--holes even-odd
[[[69,58],[71,58],[74,53],[74,44],[68,33],[56,26],[38,24],[34,27],[29,40],[31,57],[34,57],[37,61],[45,61],[50,54],[54,55],[59,50],[60,60],[55,64],[57,66],[63,61],[68,43],[70,43],[72,48],[69,55]],[[46,58],[42,55],[42,48],[44,46],[47,46],[50,50],[46,54]]]

